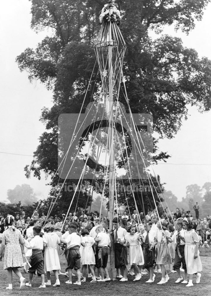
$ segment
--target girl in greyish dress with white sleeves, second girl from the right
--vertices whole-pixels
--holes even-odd
[[[161,228],[162,226],[162,228]],[[158,254],[156,264],[160,265],[162,279],[157,284],[165,284],[169,280],[169,276],[165,270],[165,264],[172,264],[171,254],[168,247],[168,242],[172,242],[171,234],[167,230],[168,223],[163,221],[158,223],[159,231],[156,234],[155,242],[152,244],[152,248],[157,244]],[[163,230],[162,230],[163,229]]]

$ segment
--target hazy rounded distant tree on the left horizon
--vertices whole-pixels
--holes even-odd
[[[31,205],[37,201],[33,189],[28,184],[16,185],[7,191],[7,198],[11,203],[21,202],[22,205]]]

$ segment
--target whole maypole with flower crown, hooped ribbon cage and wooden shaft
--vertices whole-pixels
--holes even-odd
[[[108,119],[108,149],[109,149],[109,229],[111,230],[114,217],[114,104],[118,100],[126,44],[119,30],[121,16],[114,1],[104,5],[100,14],[102,24],[95,42],[95,54],[100,67],[103,97]],[[111,278],[116,279],[114,238],[111,237],[110,271]]]

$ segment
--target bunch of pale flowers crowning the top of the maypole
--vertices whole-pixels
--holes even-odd
[[[105,4],[100,14],[100,25],[103,22],[116,22],[119,26],[121,23],[121,15],[119,9],[117,9],[114,0],[111,0],[108,4]]]

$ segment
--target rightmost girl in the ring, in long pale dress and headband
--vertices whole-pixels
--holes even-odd
[[[200,283],[202,271],[202,263],[199,257],[199,237],[193,228],[193,223],[189,218],[184,218],[182,221],[184,228],[184,237],[181,239],[185,242],[185,261],[187,273],[189,274],[189,283],[186,287],[193,286],[193,274],[196,274],[196,283]]]

